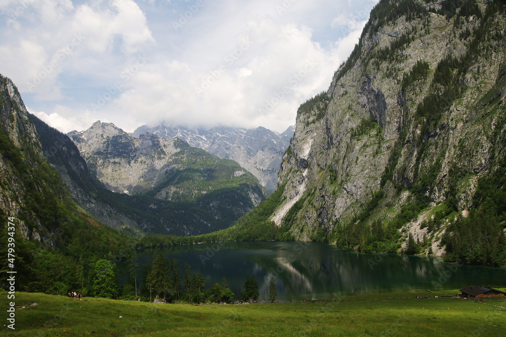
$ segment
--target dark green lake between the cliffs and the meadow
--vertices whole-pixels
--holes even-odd
[[[463,288],[472,284],[506,286],[506,269],[447,264],[437,258],[360,254],[311,242],[240,242],[175,246],[159,250],[167,258],[200,272],[206,288],[225,276],[235,299],[244,279],[253,275],[260,300],[267,301],[269,280],[276,279],[279,300],[300,301],[335,296],[405,290]],[[154,250],[138,253],[141,266],[153,260]],[[124,270],[120,266],[120,272]],[[123,273],[124,274],[124,273]],[[140,272],[139,272],[140,279]]]

